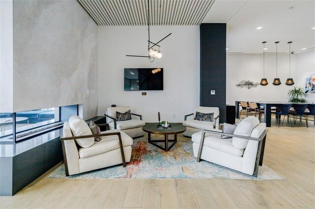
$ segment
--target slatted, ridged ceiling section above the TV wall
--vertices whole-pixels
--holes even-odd
[[[147,0],[78,0],[99,26],[148,25]],[[198,26],[215,0],[150,0],[150,25]]]

